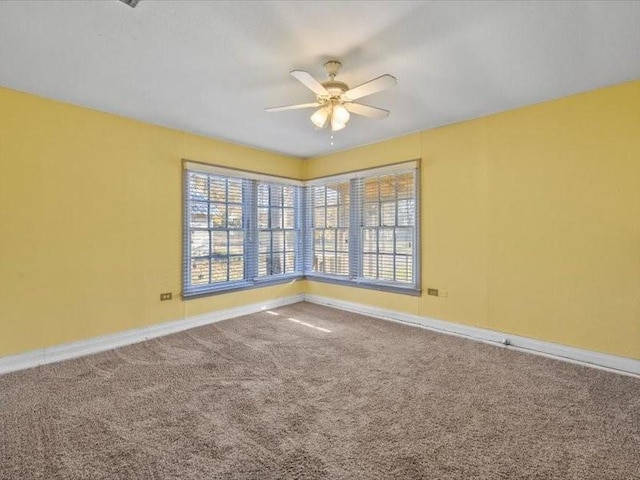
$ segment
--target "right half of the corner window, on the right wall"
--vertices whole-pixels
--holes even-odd
[[[419,293],[417,162],[309,183],[305,274]]]

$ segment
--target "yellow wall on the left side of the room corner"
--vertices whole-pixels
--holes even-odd
[[[0,88],[0,357],[300,293],[180,300],[182,158],[302,175],[296,158]]]

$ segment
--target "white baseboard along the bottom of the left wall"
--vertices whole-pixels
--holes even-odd
[[[207,325],[229,318],[249,315],[261,310],[282,307],[292,303],[304,301],[304,295],[291,295],[260,303],[252,303],[241,307],[228,308],[217,312],[196,315],[182,320],[151,325],[149,327],[127,330],[124,332],[104,335],[101,337],[89,338],[78,342],[65,343],[53,347],[32,350],[30,352],[0,358],[0,375],[3,373],[15,372],[27,368],[37,367],[48,363],[56,363],[62,360],[91,355],[93,353],[111,350],[113,348],[124,347],[133,343],[143,342],[150,338],[162,337],[171,333],[181,332],[190,328]]]

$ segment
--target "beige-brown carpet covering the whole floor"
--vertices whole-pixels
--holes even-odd
[[[0,376],[0,478],[640,478],[636,378],[276,312]]]

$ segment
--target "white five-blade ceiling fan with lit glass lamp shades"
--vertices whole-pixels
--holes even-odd
[[[291,71],[291,75],[296,80],[316,94],[316,101],[271,107],[265,110],[267,112],[283,112],[299,108],[320,107],[311,115],[311,122],[318,128],[330,125],[334,132],[342,130],[347,125],[351,117],[350,113],[369,118],[385,118],[389,115],[389,110],[355,103],[354,100],[393,87],[398,82],[394,76],[385,74],[357,87],[349,88],[346,83],[335,79],[340,67],[342,64],[337,60],[326,62],[324,68],[329,75],[329,80],[324,82],[318,82],[309,72],[304,70]]]

